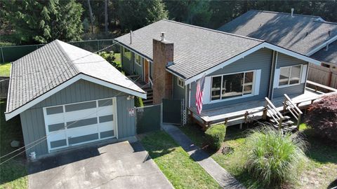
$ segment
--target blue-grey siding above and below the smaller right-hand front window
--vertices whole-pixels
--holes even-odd
[[[305,62],[301,59],[297,59],[295,57],[284,55],[282,53],[278,53],[277,55],[277,64],[276,64],[277,69],[284,66],[295,66],[298,64],[308,64],[308,62]],[[272,97],[273,98],[282,97],[284,94],[288,94],[289,96],[298,95],[303,94],[304,91],[305,91],[305,83],[300,83],[299,85],[292,85],[289,87],[274,88]]]

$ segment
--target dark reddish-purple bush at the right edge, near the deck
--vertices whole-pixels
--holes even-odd
[[[305,123],[310,125],[319,137],[337,141],[337,94],[326,96],[312,104]]]

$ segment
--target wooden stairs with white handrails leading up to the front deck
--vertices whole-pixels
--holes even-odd
[[[302,111],[298,109],[298,106],[296,106],[286,94],[284,94],[282,110],[277,109],[270,99],[265,97],[263,118],[269,120],[271,125],[277,130],[282,130],[282,132],[296,132],[300,125],[302,114]],[[294,123],[293,120],[296,120],[296,123]]]

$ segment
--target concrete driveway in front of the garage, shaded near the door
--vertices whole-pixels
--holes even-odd
[[[29,188],[173,188],[139,142],[90,146],[29,163]]]

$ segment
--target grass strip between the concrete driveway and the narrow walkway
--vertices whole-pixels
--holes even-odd
[[[165,132],[146,134],[141,143],[175,188],[220,188]]]

